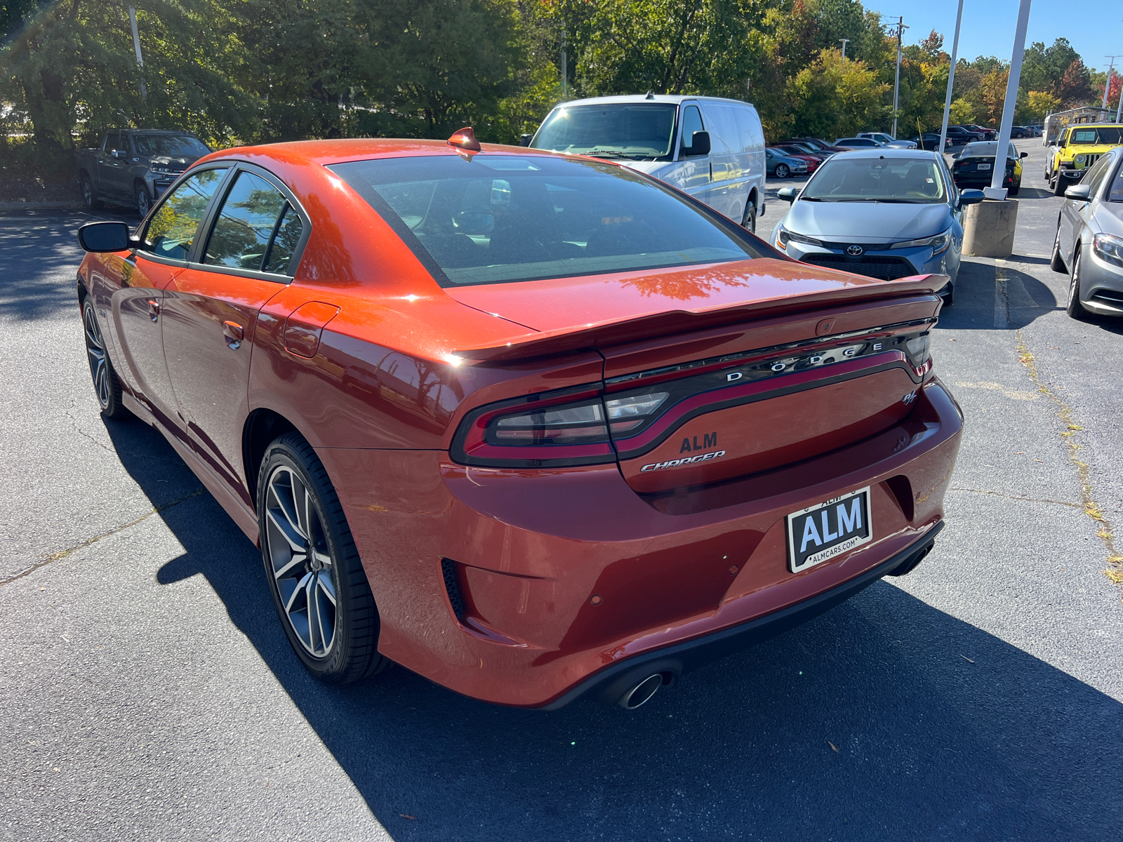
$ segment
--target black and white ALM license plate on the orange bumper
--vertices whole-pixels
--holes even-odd
[[[787,515],[787,567],[800,573],[873,539],[866,486]]]

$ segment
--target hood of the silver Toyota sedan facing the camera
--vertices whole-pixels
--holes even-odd
[[[780,225],[795,234],[855,242],[892,242],[932,237],[951,225],[943,203],[807,202],[797,200]]]

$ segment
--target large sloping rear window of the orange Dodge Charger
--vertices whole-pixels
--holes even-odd
[[[442,286],[758,257],[688,200],[627,168],[549,156],[382,158],[330,167]]]

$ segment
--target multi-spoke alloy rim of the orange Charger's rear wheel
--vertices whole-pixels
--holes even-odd
[[[285,617],[304,649],[326,658],[336,639],[335,565],[312,492],[279,465],[266,489],[270,569]]]

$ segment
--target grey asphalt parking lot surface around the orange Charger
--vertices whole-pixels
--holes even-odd
[[[1123,322],[1063,312],[1040,144],[1015,256],[968,258],[934,332],[967,415],[935,550],[633,713],[310,679],[257,550],[98,413],[90,218],[0,217],[0,840],[1123,836]]]

